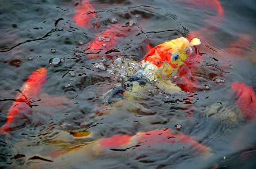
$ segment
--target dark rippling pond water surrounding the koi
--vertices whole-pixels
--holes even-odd
[[[95,0],[91,4],[98,12],[100,26],[81,28],[72,18],[77,3],[76,0],[0,0],[0,126],[6,122],[13,104],[10,99],[15,98],[16,90],[40,67],[48,70],[40,98],[57,97],[65,102],[52,105],[39,101],[28,117],[28,125],[0,136],[1,168],[253,169],[256,166],[256,120],[245,119],[230,87],[238,81],[256,90],[255,1],[221,0],[224,16],[221,21],[210,23],[217,27],[214,30],[205,23],[216,15],[213,7],[178,0]],[[120,24],[135,22],[134,31],[113,47],[120,51],[113,52],[113,58],[104,53],[99,58],[87,58],[83,50],[96,33],[112,25],[111,17]],[[104,93],[122,83],[117,75],[95,68],[95,63],[105,59],[103,64],[108,68],[118,57],[139,62],[146,54],[142,50],[146,43],[156,46],[187,37],[204,27],[208,30],[203,32],[205,41],[201,39],[199,47],[203,60],[195,63],[200,69],[193,75],[200,84],[189,103],[189,95],[184,93],[170,95],[157,91],[139,101],[147,112],[134,114],[122,109],[108,115],[95,113],[103,104]],[[242,52],[230,54],[230,44],[239,39],[244,44],[233,48]],[[60,58],[62,63],[50,65],[51,58]],[[216,78],[225,82],[216,83]],[[189,114],[191,111],[193,115]],[[69,161],[60,160],[57,165],[27,160],[35,155],[49,157],[53,151],[67,153],[72,147],[115,134],[131,136],[154,129],[177,130],[177,124],[182,125],[181,133],[210,147],[211,156],[202,158],[194,151],[163,145],[156,146],[155,153],[134,149],[88,157],[84,151]],[[90,131],[93,136],[74,139],[65,132],[81,130]]]

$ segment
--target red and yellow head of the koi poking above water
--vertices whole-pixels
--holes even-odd
[[[146,54],[142,61],[142,69],[145,72],[154,72],[155,79],[168,78],[188,59],[188,50],[192,50],[191,46],[199,44],[198,38],[193,38],[189,42],[184,37],[162,43]]]

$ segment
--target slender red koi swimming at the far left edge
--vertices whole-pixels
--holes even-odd
[[[40,68],[31,73],[27,81],[23,83],[15,102],[8,110],[7,122],[0,128],[0,132],[9,132],[19,126],[24,126],[26,114],[32,113],[31,98],[38,97],[41,86],[46,81],[46,68]]]

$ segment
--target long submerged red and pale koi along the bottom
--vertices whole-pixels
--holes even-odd
[[[85,158],[93,158],[102,154],[120,155],[121,152],[121,155],[136,157],[137,154],[141,156],[141,153],[152,155],[152,153],[169,152],[172,151],[172,146],[182,146],[182,151],[184,149],[194,151],[202,155],[202,157],[211,155],[211,149],[209,147],[196,142],[191,137],[181,133],[174,133],[170,129],[159,129],[138,132],[133,136],[117,134],[112,137],[95,140],[90,142],[90,144],[76,147],[64,153],[53,151],[50,156],[40,158],[44,159],[44,161],[53,162],[48,163],[49,165],[53,164],[54,166],[60,167],[60,165],[66,162],[72,161],[73,164],[78,164],[84,162],[83,160]],[[174,149],[177,150],[177,147]],[[36,157],[39,156],[37,155]],[[28,161],[30,159],[36,158],[29,157]],[[65,165],[70,164],[66,163]]]

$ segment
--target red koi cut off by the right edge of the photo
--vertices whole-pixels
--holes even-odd
[[[237,92],[237,106],[244,113],[245,118],[254,119],[256,117],[256,95],[252,86],[234,82],[232,89]]]

